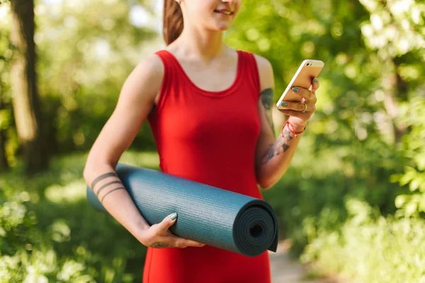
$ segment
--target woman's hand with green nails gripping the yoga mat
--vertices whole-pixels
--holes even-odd
[[[169,227],[173,226],[176,219],[177,214],[170,214],[169,216],[166,216],[162,222],[150,226],[149,229],[147,229],[139,238],[140,243],[152,248],[186,248],[205,246],[203,243],[181,238],[171,233],[169,231]]]

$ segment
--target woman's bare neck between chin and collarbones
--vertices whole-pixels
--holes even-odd
[[[194,54],[205,62],[220,57],[227,52],[222,42],[221,31],[200,30],[191,25],[185,26],[179,38],[173,42],[183,54]]]

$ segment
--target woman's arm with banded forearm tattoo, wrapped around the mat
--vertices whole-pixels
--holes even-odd
[[[164,67],[157,55],[137,64],[120,91],[115,110],[89,152],[84,180],[109,214],[145,246],[203,246],[174,236],[168,229],[176,219],[171,220],[168,216],[161,223],[149,226],[115,173],[120,156],[132,144],[152,110],[163,78]],[[101,100],[96,103],[101,103]]]

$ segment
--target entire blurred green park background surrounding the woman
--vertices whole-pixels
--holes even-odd
[[[145,247],[89,207],[82,171],[161,21],[161,1],[0,0],[0,282],[140,282]],[[303,59],[325,62],[263,191],[293,257],[312,277],[425,282],[424,2],[244,0],[225,41],[271,61],[275,101]],[[147,124],[120,162],[158,168]]]

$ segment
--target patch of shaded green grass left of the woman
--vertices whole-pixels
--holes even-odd
[[[86,202],[86,155],[56,158],[52,169],[0,176],[0,282],[138,282],[146,248]],[[157,168],[157,154],[121,162]]]

